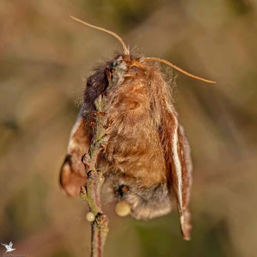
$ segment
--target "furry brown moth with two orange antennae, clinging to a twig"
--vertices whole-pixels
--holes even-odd
[[[108,110],[109,139],[97,163],[105,176],[102,196],[107,202],[125,201],[136,219],[158,217],[177,207],[182,236],[190,240],[190,146],[173,105],[172,87],[159,63],[196,79],[215,82],[191,75],[166,60],[134,55],[116,33],[71,18],[112,34],[124,51],[95,68],[87,79],[82,108],[61,168],[61,188],[68,196],[78,196],[80,187],[86,185],[81,158],[88,152],[94,132],[94,102],[108,85],[113,63],[122,59],[127,70]]]

